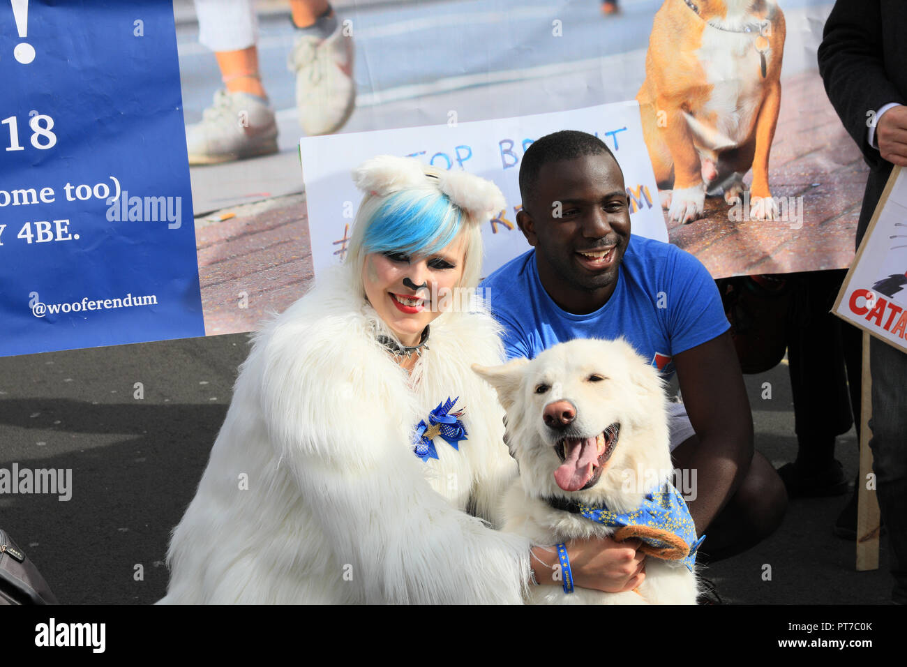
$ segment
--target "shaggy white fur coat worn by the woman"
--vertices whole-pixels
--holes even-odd
[[[516,475],[503,410],[470,369],[500,363],[493,319],[435,319],[412,380],[383,327],[344,268],[256,334],[161,603],[522,602],[529,540],[464,511],[500,525]],[[468,439],[435,438],[423,463],[414,426],[447,397]]]

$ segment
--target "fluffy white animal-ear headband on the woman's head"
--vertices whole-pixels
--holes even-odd
[[[507,205],[501,189],[492,181],[467,172],[427,167],[416,158],[378,155],[356,168],[353,181],[359,190],[379,197],[434,184],[474,222],[492,219]]]

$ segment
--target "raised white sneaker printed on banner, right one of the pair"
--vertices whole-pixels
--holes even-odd
[[[336,132],[356,107],[353,38],[342,31],[338,22],[327,39],[301,34],[288,57],[296,73],[299,124],[309,136]]]

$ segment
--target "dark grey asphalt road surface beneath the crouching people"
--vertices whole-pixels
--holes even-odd
[[[72,469],[68,501],[0,495],[0,525],[61,603],[146,604],[165,593],[171,529],[199,483],[247,353],[248,335],[232,334],[0,358],[0,467]],[[747,376],[746,386],[756,448],[775,465],[792,460],[787,369]],[[853,430],[838,443],[853,478]],[[832,533],[846,497],[792,502],[775,535],[700,574],[728,603],[886,603],[886,538],[880,570],[858,573],[853,542]]]

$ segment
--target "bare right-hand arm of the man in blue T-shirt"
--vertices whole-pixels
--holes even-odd
[[[678,451],[675,465],[697,471],[697,497],[688,506],[702,535],[746,476],[753,458],[753,416],[727,331],[676,354],[674,366],[699,440]]]

